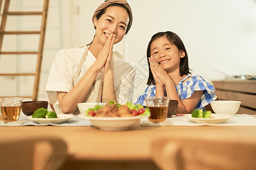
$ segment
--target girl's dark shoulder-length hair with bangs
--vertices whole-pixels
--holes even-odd
[[[147,79],[147,86],[149,86],[150,84],[154,84],[155,85],[155,79],[154,76],[152,75],[151,69],[150,69],[150,62],[148,61],[148,57],[151,56],[150,52],[151,52],[151,44],[153,41],[158,40],[160,37],[166,37],[167,40],[173,44],[176,45],[177,48],[179,50],[183,50],[185,53],[185,57],[180,58],[180,76],[183,75],[187,75],[187,74],[191,74],[188,67],[188,54],[187,54],[187,50],[185,49],[185,46],[182,42],[182,40],[180,39],[179,36],[176,35],[176,33],[171,32],[171,31],[166,31],[166,32],[158,32],[155,35],[153,35],[151,37],[150,42],[148,42],[147,45],[147,63],[148,63],[148,79]]]

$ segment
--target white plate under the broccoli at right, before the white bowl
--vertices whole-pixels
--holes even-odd
[[[191,114],[185,115],[186,118],[188,118],[189,121],[192,121],[196,124],[220,124],[223,123],[233,116],[230,116],[228,114],[215,114],[212,113],[212,118],[199,118],[199,117],[192,117]]]

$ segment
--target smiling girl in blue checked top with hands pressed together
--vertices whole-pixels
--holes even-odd
[[[147,46],[148,87],[135,104],[146,105],[147,96],[167,96],[178,100],[177,113],[191,113],[204,109],[217,98],[215,88],[200,75],[189,75],[188,54],[175,33],[159,32]]]

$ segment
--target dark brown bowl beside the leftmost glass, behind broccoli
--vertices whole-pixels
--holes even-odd
[[[37,109],[48,108],[48,101],[23,101],[22,112],[26,116],[31,116]]]

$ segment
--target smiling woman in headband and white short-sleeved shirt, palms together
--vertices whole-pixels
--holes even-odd
[[[114,52],[133,22],[127,1],[102,3],[92,17],[96,34],[84,47],[60,50],[49,71],[46,92],[56,113],[79,113],[82,102],[125,104],[133,97],[136,70]]]

